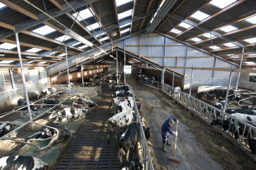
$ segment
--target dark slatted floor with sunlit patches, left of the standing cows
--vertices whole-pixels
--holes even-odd
[[[102,90],[99,107],[91,112],[89,121],[72,140],[56,169],[122,169],[115,137],[112,135],[110,142],[106,142],[107,120],[113,116],[110,103],[113,98],[113,89]]]

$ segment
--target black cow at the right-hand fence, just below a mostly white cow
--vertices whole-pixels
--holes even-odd
[[[214,121],[212,121],[210,123],[210,125],[221,126],[221,124],[222,124],[222,128],[225,131],[229,130],[231,133],[234,133],[234,137],[236,139],[238,139],[238,137],[239,137],[238,136],[238,130],[239,130],[239,134],[242,135],[243,134],[243,129],[245,128],[245,124],[240,123],[238,121],[236,121],[236,123],[234,123],[234,119],[232,121],[230,121],[230,120],[223,120],[222,121],[221,119],[214,119]],[[230,126],[230,128],[229,128],[229,126]],[[250,131],[250,128],[248,126],[246,126],[244,137],[247,137],[247,134],[248,134],[249,131]],[[253,132],[253,131],[251,131],[251,132],[255,136],[255,132]]]

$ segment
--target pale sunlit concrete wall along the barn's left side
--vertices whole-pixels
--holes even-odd
[[[41,75],[41,80],[39,80],[39,83],[35,85],[26,83],[29,100],[35,100],[35,97],[38,96],[42,89],[48,88],[48,78],[45,69],[41,68],[39,71]],[[18,99],[25,99],[24,88],[22,86],[11,90],[4,90],[0,92],[0,96],[0,109],[2,111],[5,109],[12,109],[14,105],[16,106]]]

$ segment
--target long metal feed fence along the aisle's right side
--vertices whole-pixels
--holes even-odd
[[[135,77],[138,76],[134,72],[132,74]],[[146,82],[146,83],[145,83],[145,81],[139,81],[139,82],[144,83],[144,84],[148,85],[149,87],[155,88],[154,85],[150,85],[150,84],[148,84],[148,82]],[[228,133],[233,138],[234,138],[234,133],[238,133],[237,140],[238,140],[238,142],[242,143],[243,145],[245,145],[245,143],[243,142],[244,137],[245,138],[255,137],[255,131],[256,131],[255,126],[252,126],[244,121],[241,121],[240,119],[234,118],[230,114],[227,114],[226,112],[223,112],[213,106],[210,106],[209,104],[207,104],[199,99],[196,99],[195,97],[193,97],[191,95],[181,92],[180,90],[176,90],[174,87],[167,85],[165,83],[161,83],[161,85],[159,85],[158,89],[163,90],[163,92],[165,92],[167,95],[169,95],[173,99],[177,100],[177,102],[188,107],[191,111],[196,112],[196,114],[201,116],[203,119],[207,120],[209,123],[211,121],[213,121],[216,114],[219,113],[220,114],[219,119],[221,121],[221,126],[219,126],[220,130],[222,129],[223,121],[229,119],[230,123],[229,123],[228,132],[225,131],[225,133]],[[231,121],[233,121],[235,126],[231,126],[231,124],[233,124],[233,123],[231,123]],[[243,126],[241,126],[241,125],[243,125]],[[231,127],[233,127],[233,129],[231,129]],[[241,129],[241,127],[243,127],[243,128]]]

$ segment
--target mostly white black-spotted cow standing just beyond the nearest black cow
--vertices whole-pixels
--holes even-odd
[[[135,112],[132,110],[119,112],[112,116],[112,118],[108,118],[108,139],[110,142],[111,132],[115,133],[115,137],[117,137],[117,132],[120,128],[129,125],[132,121],[136,121]]]

